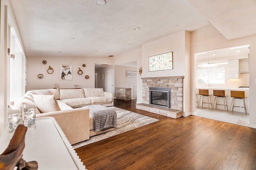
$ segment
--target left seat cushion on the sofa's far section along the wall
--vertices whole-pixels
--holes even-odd
[[[82,107],[91,105],[91,100],[88,98],[72,98],[72,99],[62,99],[62,102],[67,104],[70,107]]]

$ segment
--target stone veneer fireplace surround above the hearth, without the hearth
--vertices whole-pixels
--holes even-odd
[[[147,77],[142,79],[142,103],[149,104],[149,87],[171,88],[171,109],[183,110],[184,76]]]

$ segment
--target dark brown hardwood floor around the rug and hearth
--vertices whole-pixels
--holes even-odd
[[[135,104],[114,101],[159,121],[75,149],[88,170],[256,170],[256,129],[197,116],[172,119]]]

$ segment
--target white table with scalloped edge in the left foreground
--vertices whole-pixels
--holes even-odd
[[[7,127],[0,137],[0,154],[8,147]],[[38,170],[85,170],[85,166],[53,117],[36,119],[36,129],[27,131],[22,158],[36,160]]]

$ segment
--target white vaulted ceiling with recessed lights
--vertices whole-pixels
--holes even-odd
[[[10,0],[26,56],[106,57],[213,25],[256,34],[255,0]],[[139,30],[134,28],[139,27]]]

